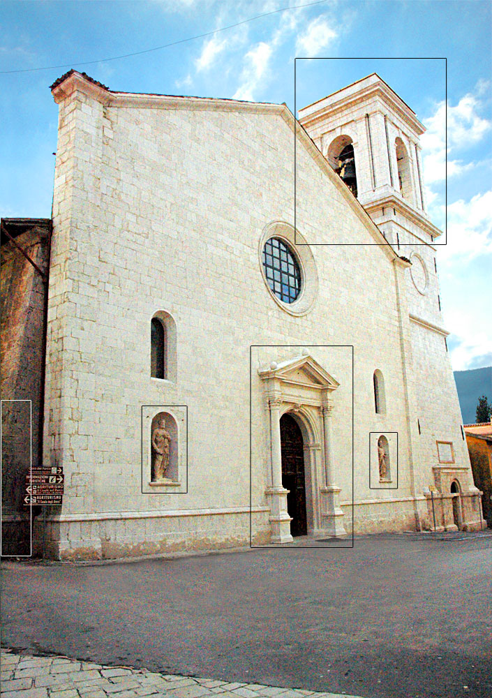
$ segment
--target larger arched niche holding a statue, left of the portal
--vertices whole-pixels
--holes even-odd
[[[179,444],[176,419],[168,412],[159,412],[151,421],[150,482],[179,481]]]

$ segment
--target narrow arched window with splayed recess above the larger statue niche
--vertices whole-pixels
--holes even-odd
[[[150,375],[177,383],[176,322],[170,313],[162,310],[151,319]]]

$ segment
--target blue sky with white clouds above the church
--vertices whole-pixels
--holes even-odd
[[[285,102],[292,112],[377,72],[427,129],[428,216],[447,227],[437,260],[453,369],[490,366],[491,20],[481,0],[3,0],[1,216],[50,217],[49,86],[70,68],[114,91]]]

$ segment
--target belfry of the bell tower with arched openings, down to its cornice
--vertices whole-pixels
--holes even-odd
[[[304,107],[299,121],[398,254],[441,235],[425,210],[424,126],[379,75]]]

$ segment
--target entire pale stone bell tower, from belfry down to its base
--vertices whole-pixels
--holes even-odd
[[[405,286],[398,286],[398,305],[402,318],[408,315],[402,366],[412,458],[419,463],[415,487],[426,498],[429,487],[442,496],[459,488],[461,505],[471,512],[477,489],[447,353],[449,332],[442,326],[435,262],[435,239],[442,233],[426,213],[419,143],[424,126],[376,73],[299,110],[299,121],[387,242],[411,262]],[[450,455],[442,456],[445,448]],[[476,512],[467,515],[479,518],[479,507]]]

